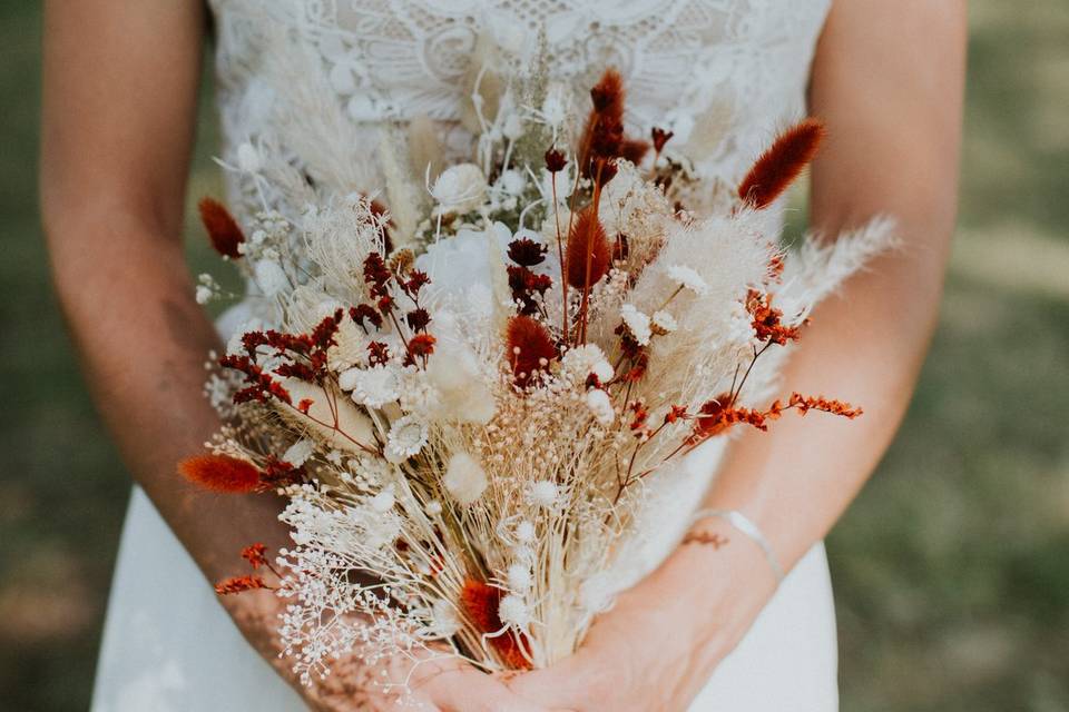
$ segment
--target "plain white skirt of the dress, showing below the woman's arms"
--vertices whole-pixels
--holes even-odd
[[[835,610],[823,545],[787,575],[692,712],[834,712]],[[134,490],[91,712],[304,712]],[[606,711],[609,712],[609,711]]]

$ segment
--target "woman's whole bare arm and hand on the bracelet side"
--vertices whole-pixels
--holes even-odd
[[[828,139],[812,170],[813,225],[835,235],[889,214],[902,246],[815,310],[784,373],[784,393],[828,394],[865,415],[785,417],[745,434],[704,503],[743,512],[786,570],[875,468],[928,350],[957,212],[965,33],[960,0],[849,0],[821,37],[810,103]],[[686,710],[776,585],[742,533],[715,518],[695,528],[728,544],[680,546],[572,657],[510,685],[579,712]]]

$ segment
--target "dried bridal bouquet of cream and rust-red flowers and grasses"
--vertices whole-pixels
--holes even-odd
[[[605,572],[657,524],[640,513],[687,476],[677,462],[787,412],[861,413],[772,395],[814,304],[889,240],[875,222],[777,245],[777,198],[821,125],[785,131],[727,191],[669,132],[626,135],[616,72],[585,120],[550,95],[475,101],[473,162],[412,171],[420,141],[384,140],[374,196],[259,147],[254,192],[303,209],[242,227],[200,204],[262,299],[209,376],[226,425],[179,471],[286,498],[292,548],[248,547],[255,571],[217,590],[287,601],[305,681],[342,655],[549,665],[610,605]],[[202,277],[198,298],[218,290]]]

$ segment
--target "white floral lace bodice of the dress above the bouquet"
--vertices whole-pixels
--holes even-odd
[[[321,144],[374,147],[376,127],[424,116],[458,155],[468,154],[465,81],[489,42],[494,61],[514,70],[543,57],[547,73],[582,99],[615,66],[636,135],[668,128],[675,150],[703,172],[734,180],[777,128],[804,111],[830,2],[212,0],[224,158],[247,166],[255,162],[249,147],[274,141],[300,160],[306,141],[295,130]],[[295,101],[294,82],[322,91]],[[281,106],[324,96],[336,103],[333,123],[305,128],[301,106]],[[365,151],[356,162],[351,181],[369,185],[349,188],[373,190],[374,161]]]

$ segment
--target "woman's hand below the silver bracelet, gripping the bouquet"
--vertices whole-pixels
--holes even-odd
[[[509,686],[550,706],[684,712],[775,590],[753,542],[704,523],[708,543],[680,546],[600,615],[571,657]]]

